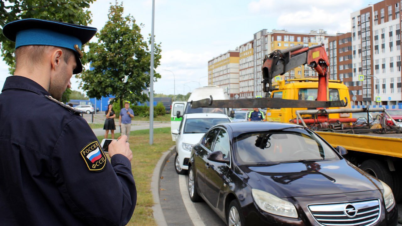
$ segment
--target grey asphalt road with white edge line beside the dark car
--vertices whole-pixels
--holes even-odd
[[[176,153],[174,150],[173,153]],[[160,179],[159,198],[168,226],[225,226],[226,223],[204,201],[193,203],[187,191],[187,175],[174,170],[174,156],[170,156]],[[398,204],[402,216],[402,203]],[[402,224],[398,224],[402,225]]]

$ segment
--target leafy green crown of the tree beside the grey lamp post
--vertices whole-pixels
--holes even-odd
[[[105,27],[96,34],[98,43],[89,43],[88,60],[91,70],[85,71],[81,78],[80,87],[86,90],[88,97],[99,99],[115,95],[113,101],[121,100],[131,103],[148,100],[145,90],[150,86],[150,60],[148,42],[141,35],[141,27],[135,24],[133,16],[123,17],[123,4],[110,6],[109,20]],[[154,47],[154,67],[160,65],[160,43]],[[155,73],[154,80],[160,78]]]

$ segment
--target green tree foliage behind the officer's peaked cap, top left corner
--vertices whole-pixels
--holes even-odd
[[[78,25],[91,23],[91,13],[86,10],[94,0],[0,0],[1,56],[14,74],[15,44],[3,35],[6,23],[25,18],[54,20]],[[85,58],[85,54],[84,54]]]

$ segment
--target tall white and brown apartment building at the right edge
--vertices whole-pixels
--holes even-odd
[[[356,105],[402,102],[400,3],[384,0],[351,14],[353,82],[364,78]]]

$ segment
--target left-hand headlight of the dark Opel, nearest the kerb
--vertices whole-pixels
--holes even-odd
[[[258,189],[251,189],[251,194],[258,207],[267,213],[289,218],[298,216],[295,205],[289,201]]]

